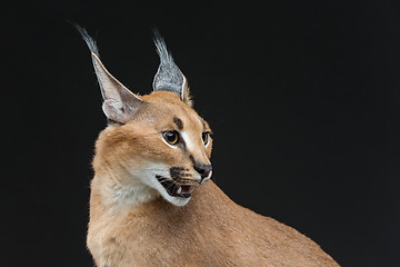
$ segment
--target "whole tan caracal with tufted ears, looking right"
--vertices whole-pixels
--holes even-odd
[[[311,239],[207,181],[211,129],[191,108],[178,67],[139,97],[107,71],[94,42],[81,33],[104,103],[112,101],[104,113],[118,122],[96,142],[87,244],[98,267],[338,266]],[[160,75],[166,61],[174,63],[164,42],[156,44]]]

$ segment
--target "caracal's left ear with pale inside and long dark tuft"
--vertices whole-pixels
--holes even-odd
[[[128,122],[144,101],[126,88],[104,68],[100,61],[99,49],[96,46],[96,41],[88,34],[86,29],[78,24],[76,24],[76,28],[82,34],[83,40],[91,51],[96,76],[99,80],[101,96],[104,100],[102,105],[103,112],[111,121],[119,123]]]

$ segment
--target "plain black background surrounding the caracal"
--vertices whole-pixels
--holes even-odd
[[[90,161],[104,128],[89,50],[151,91],[157,27],[213,129],[213,179],[343,266],[399,266],[394,1],[14,1],[1,9],[1,265],[92,266]]]

